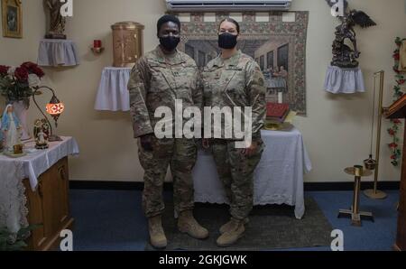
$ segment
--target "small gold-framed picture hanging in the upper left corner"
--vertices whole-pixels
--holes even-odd
[[[3,36],[23,38],[23,15],[21,0],[2,1]]]

